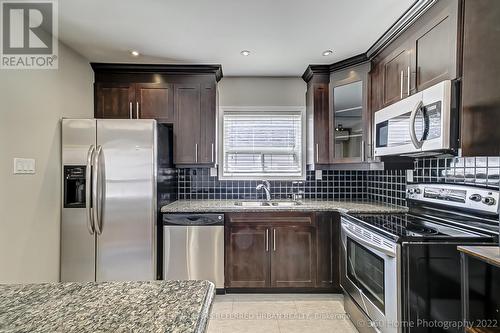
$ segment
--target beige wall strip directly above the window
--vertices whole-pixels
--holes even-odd
[[[221,106],[305,106],[300,77],[225,77],[219,82]]]

